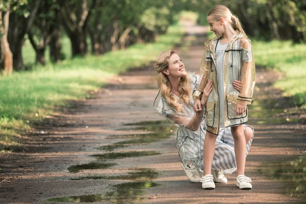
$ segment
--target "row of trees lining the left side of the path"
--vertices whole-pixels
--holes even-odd
[[[63,35],[71,41],[72,58],[89,52],[88,37],[93,55],[153,41],[172,23],[170,8],[161,0],[0,1],[1,67],[7,73],[12,72],[11,64],[15,70],[24,70],[25,36],[33,45],[36,63],[43,65],[48,46],[50,60],[64,58]]]

